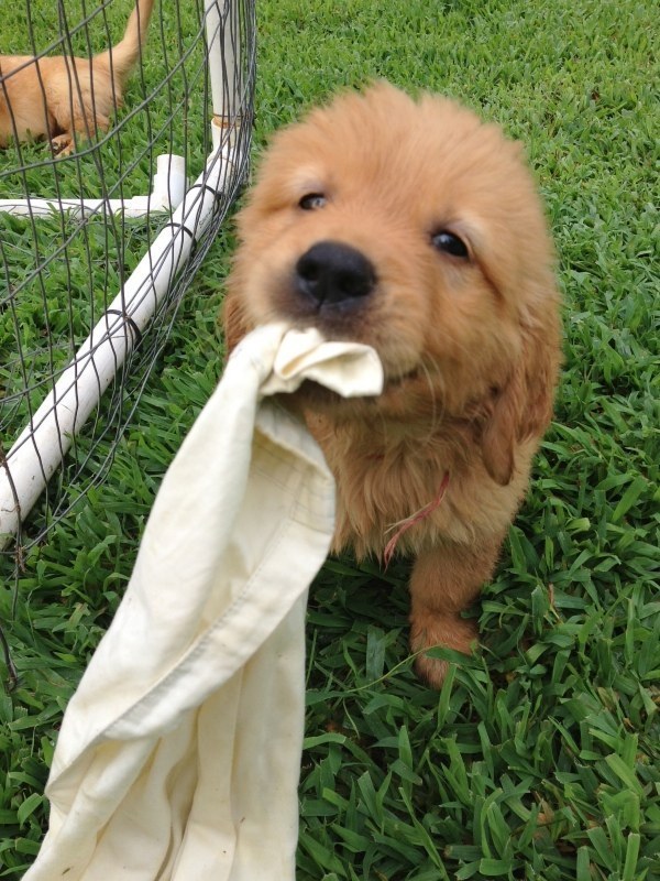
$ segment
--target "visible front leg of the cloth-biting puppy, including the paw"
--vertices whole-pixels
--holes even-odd
[[[470,654],[476,626],[461,612],[493,574],[501,545],[502,539],[481,539],[474,545],[442,544],[419,554],[410,578],[414,652],[442,645]],[[442,685],[446,661],[420,654],[415,667],[433,688]]]

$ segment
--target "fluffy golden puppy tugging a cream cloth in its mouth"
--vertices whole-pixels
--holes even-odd
[[[559,296],[519,146],[386,84],[276,135],[239,218],[226,326],[289,319],[367,342],[378,399],[295,396],[338,483],[334,550],[415,557],[411,646],[469,652],[552,411]],[[442,661],[420,653],[439,686]]]

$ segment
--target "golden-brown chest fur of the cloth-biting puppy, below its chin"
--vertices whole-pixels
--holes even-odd
[[[510,489],[497,491],[469,433],[457,426],[397,437],[377,422],[333,425],[314,415],[307,423],[337,479],[334,552],[352,546],[359,557],[383,557],[397,535],[402,553],[442,541],[472,543],[501,532],[517,508],[518,499]]]

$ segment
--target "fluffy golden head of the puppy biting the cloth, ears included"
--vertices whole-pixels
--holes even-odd
[[[510,478],[516,439],[549,417],[558,335],[552,250],[517,144],[442,98],[386,84],[343,95],[275,137],[239,238],[230,346],[280,319],[366,342],[386,385],[365,407],[465,415],[492,476]],[[338,418],[359,410],[317,402]]]

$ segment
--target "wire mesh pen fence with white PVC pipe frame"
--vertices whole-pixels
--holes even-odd
[[[62,139],[51,140],[54,128],[41,139],[23,137],[19,112],[12,116],[12,96],[14,108],[31,99],[26,87],[20,97],[15,88],[23,72],[37,67],[32,98],[42,101],[40,119],[50,113],[44,65],[57,55],[69,59],[62,69],[72,112],[86,76],[100,105],[96,68],[85,74],[72,59],[118,46],[134,8],[135,0],[94,7],[24,0],[4,13],[0,144],[10,131],[0,149],[0,542],[19,563],[107,475],[182,296],[248,168],[250,0],[157,3],[121,105],[113,89],[107,128],[87,122],[68,154],[57,152]],[[8,57],[16,54],[28,56],[18,67]],[[42,435],[56,455],[44,452]],[[19,475],[22,459],[33,463],[32,477]],[[21,480],[45,485],[30,516]]]

